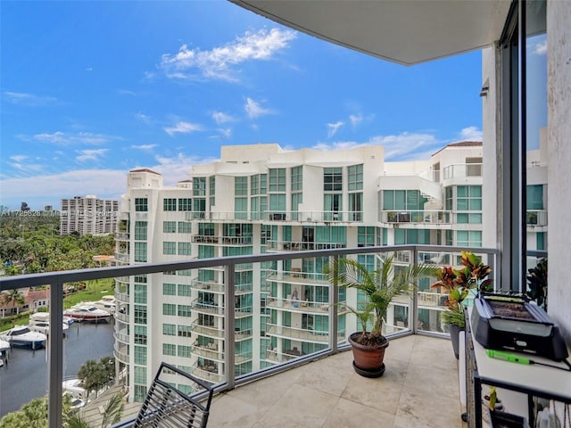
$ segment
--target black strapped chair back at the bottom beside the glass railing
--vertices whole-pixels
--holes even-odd
[[[167,382],[168,381],[168,382]],[[188,385],[189,393],[174,385]],[[175,366],[161,363],[139,410],[135,428],[204,428],[213,388]]]

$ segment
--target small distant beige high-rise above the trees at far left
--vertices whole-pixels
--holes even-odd
[[[112,234],[117,227],[119,201],[98,199],[93,194],[62,199],[60,235]]]

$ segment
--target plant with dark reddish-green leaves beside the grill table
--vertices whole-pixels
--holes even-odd
[[[456,358],[459,358],[459,332],[466,328],[466,301],[472,290],[489,291],[493,284],[493,280],[488,278],[492,268],[484,265],[480,257],[470,251],[461,251],[460,255],[462,268],[440,268],[436,275],[438,281],[431,285],[431,288],[440,288],[447,293],[447,300],[444,302],[446,310],[442,312],[441,319],[450,331]]]

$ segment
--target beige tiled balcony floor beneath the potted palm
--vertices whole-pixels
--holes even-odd
[[[209,428],[460,428],[458,363],[450,341],[390,342],[383,377],[352,368],[351,351],[217,395]]]

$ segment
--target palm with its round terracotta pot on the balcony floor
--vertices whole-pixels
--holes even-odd
[[[366,377],[380,377],[385,373],[385,350],[389,346],[383,334],[383,323],[391,301],[401,295],[410,294],[416,289],[418,278],[434,276],[432,265],[410,265],[394,269],[393,255],[381,262],[375,270],[356,259],[334,259],[327,268],[331,284],[343,288],[353,288],[366,296],[362,309],[345,306],[354,313],[361,330],[349,336],[352,345],[353,368]]]

